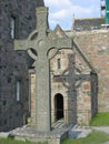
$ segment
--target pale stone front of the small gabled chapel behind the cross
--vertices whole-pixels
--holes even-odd
[[[71,68],[69,68],[70,64]],[[69,71],[72,71],[73,73],[71,73],[72,75],[68,75],[68,81],[63,82],[62,79],[67,79],[66,74],[69,74]],[[67,124],[89,124],[89,120],[97,112],[97,91],[95,86],[97,81],[91,71],[92,70],[88,66],[83,58],[75,50],[75,47],[72,47],[71,50],[59,50],[58,54],[50,60],[51,123],[54,123],[59,119],[63,119]],[[76,75],[77,79],[79,76],[81,76],[81,79],[83,76],[83,79],[75,82],[72,79]],[[86,76],[87,79],[85,79]],[[33,71],[30,74],[30,79],[31,120],[32,123],[36,123],[36,75]],[[62,99],[58,99],[59,96],[62,96]],[[60,110],[58,110],[58,103],[60,105],[63,104],[63,107],[60,106]],[[58,115],[58,111],[60,111],[60,117]],[[62,116],[61,113],[63,113]]]

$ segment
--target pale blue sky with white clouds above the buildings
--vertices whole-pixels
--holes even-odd
[[[100,17],[100,0],[44,0],[49,7],[49,25],[54,29],[59,24],[62,29],[71,29],[75,18]]]

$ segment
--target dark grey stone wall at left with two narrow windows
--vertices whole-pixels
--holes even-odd
[[[30,113],[28,69],[31,60],[27,52],[13,50],[10,22],[14,19],[14,38],[26,39],[36,28],[38,6],[43,6],[43,1],[0,1],[0,131],[26,124]]]

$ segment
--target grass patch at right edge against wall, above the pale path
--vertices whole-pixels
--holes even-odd
[[[109,112],[98,113],[90,121],[91,126],[109,126]]]

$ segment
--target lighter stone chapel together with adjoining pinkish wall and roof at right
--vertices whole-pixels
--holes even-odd
[[[52,123],[63,119],[66,123],[88,124],[95,113],[109,111],[109,30],[103,24],[101,18],[78,19],[72,31],[65,31],[73,39],[75,44],[72,50],[60,50],[50,60]],[[59,31],[56,33],[60,34]],[[73,76],[71,78],[70,72],[73,76],[80,78],[78,81],[78,76],[75,76],[77,86],[73,85]],[[85,75],[88,78],[83,80]],[[31,86],[34,88],[31,96],[33,96],[36,91],[33,73],[31,78]],[[72,88],[69,86],[71,81]],[[36,104],[33,99],[31,102],[34,122]]]

